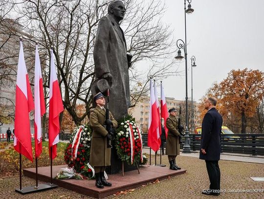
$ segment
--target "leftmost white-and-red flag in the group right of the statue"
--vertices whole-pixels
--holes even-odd
[[[150,116],[149,116],[149,132],[148,132],[148,146],[157,152],[160,146],[159,139],[159,115],[157,112],[157,105],[155,101],[154,95],[154,86],[152,84],[152,80],[150,80]]]

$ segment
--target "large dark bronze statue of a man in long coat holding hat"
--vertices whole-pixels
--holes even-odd
[[[99,22],[93,51],[96,80],[92,94],[100,91],[106,95],[107,88],[110,89],[109,109],[117,120],[128,115],[131,105],[128,68],[132,57],[127,55],[124,32],[119,26],[125,11],[120,0],[109,4],[108,16]]]

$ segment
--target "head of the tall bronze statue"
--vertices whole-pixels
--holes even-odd
[[[113,16],[118,22],[124,19],[126,8],[121,0],[112,1],[108,6],[108,14]]]

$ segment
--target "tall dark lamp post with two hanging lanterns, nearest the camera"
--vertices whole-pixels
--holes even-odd
[[[192,14],[194,12],[194,9],[192,9],[191,6],[191,2],[192,0],[187,0],[188,1],[188,8],[186,9],[186,0],[184,0],[184,25],[185,25],[185,43],[182,40],[177,40],[176,44],[178,47],[178,53],[177,56],[175,57],[177,60],[182,60],[183,57],[181,56],[181,51],[180,49],[184,50],[184,58],[185,58],[185,84],[186,84],[186,88],[185,88],[185,92],[186,92],[186,96],[185,96],[185,141],[184,141],[184,145],[183,145],[183,150],[182,153],[191,153],[191,147],[190,147],[190,136],[189,136],[189,121],[188,121],[188,82],[187,82],[187,39],[186,39],[186,13],[187,14]],[[178,42],[181,42],[180,44],[178,44]]]

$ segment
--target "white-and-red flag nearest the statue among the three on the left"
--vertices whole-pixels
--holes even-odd
[[[49,121],[48,121],[48,146],[49,155],[52,150],[52,159],[57,156],[57,143],[59,142],[60,120],[63,108],[62,95],[55,70],[53,50],[50,50],[50,80],[49,80]]]

